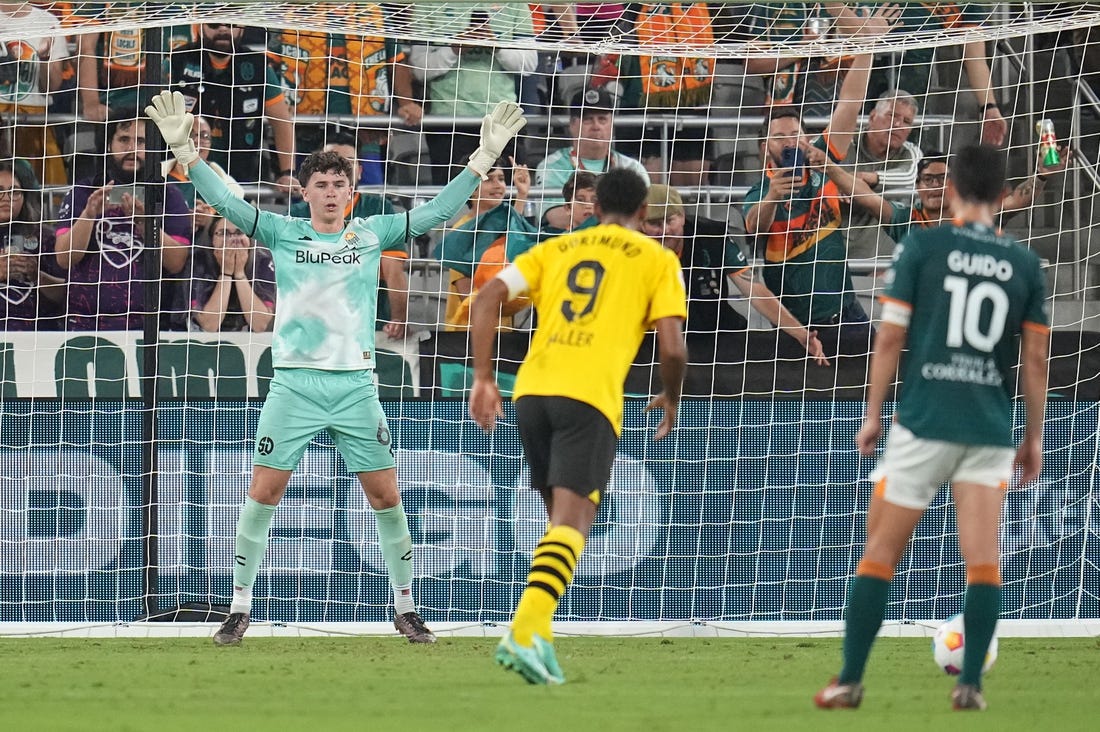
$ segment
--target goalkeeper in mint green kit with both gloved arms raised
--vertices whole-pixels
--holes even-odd
[[[481,148],[439,196],[406,214],[351,219],[351,164],[314,153],[298,179],[309,220],[261,211],[238,198],[199,160],[193,116],[183,95],[162,91],[145,112],[204,200],[275,259],[278,308],[272,339],[275,378],[256,426],[252,483],[237,522],[233,602],[213,636],[235,645],[249,627],[252,586],[267,548],[275,506],[309,441],[327,429],[375,512],[382,556],[394,589],[394,626],[410,643],[433,643],[413,598],[413,540],[397,489],[393,446],[374,384],[378,260],[392,243],[417,237],[457,214],[505,145],[524,127],[519,107],[501,102],[486,114]]]

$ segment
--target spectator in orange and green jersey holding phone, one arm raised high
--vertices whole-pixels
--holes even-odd
[[[898,12],[882,6],[868,33],[889,28]],[[870,66],[867,54],[853,58],[828,127],[812,141],[796,106],[771,109],[760,130],[765,175],[744,203],[746,232],[765,247],[765,284],[795,318],[817,331],[826,357],[869,352],[873,332],[846,264],[839,192],[820,167],[826,156],[835,163],[847,156]]]

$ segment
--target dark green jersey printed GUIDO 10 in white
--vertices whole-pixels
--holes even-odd
[[[911,308],[898,422],[917,437],[1011,447],[1012,369],[1025,327],[1047,329],[1038,256],[977,225],[913,229],[884,299]]]

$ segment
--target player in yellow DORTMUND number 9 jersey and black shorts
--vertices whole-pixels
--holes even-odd
[[[654,439],[675,424],[686,363],[686,297],[675,255],[640,232],[646,182],[614,168],[596,185],[600,226],[548,239],[482,287],[471,310],[470,416],[492,430],[502,414],[493,375],[501,307],[527,293],[538,329],[516,376],[519,438],[531,488],[550,518],[496,662],[531,684],[562,684],[550,620],[584,549],[623,428],[623,389],[647,330],[657,329],[663,390]]]

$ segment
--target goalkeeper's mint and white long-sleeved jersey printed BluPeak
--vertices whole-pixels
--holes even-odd
[[[261,211],[233,196],[206,163],[190,174],[207,203],[275,258],[272,365],[326,371],[374,368],[382,252],[454,216],[479,181],[468,168],[413,211],[352,218],[340,231],[321,233],[307,219]]]

